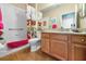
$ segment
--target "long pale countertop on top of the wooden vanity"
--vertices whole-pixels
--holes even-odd
[[[41,33],[86,35],[86,31],[83,31],[83,33],[74,33],[74,31],[60,31],[60,30],[42,30]]]

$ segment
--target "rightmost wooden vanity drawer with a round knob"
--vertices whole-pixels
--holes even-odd
[[[72,42],[86,43],[85,36],[73,35],[73,36],[72,36]]]

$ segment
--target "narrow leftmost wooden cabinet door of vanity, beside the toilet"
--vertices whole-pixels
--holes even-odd
[[[41,38],[41,51],[49,53],[49,39]]]

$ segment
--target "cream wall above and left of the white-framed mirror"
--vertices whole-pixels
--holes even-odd
[[[60,7],[57,7],[53,10],[48,10],[44,12],[44,17],[57,17],[59,27],[61,26],[61,14],[75,11],[75,4],[74,3],[65,3],[61,4]]]

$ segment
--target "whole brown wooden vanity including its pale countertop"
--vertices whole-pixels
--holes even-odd
[[[44,30],[41,51],[62,61],[86,61],[86,33]]]

